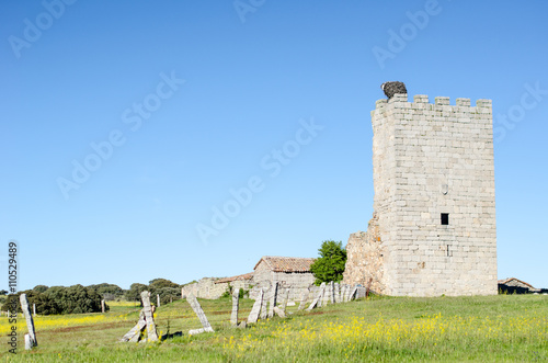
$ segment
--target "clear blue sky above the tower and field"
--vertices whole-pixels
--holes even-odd
[[[2,1],[2,270],[11,239],[20,290],[186,283],[346,243],[373,213],[369,112],[379,84],[401,80],[410,99],[493,100],[499,277],[548,287],[547,13]]]

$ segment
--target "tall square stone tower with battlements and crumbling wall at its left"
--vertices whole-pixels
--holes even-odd
[[[374,215],[344,283],[395,296],[496,294],[491,100],[407,94],[372,111]]]

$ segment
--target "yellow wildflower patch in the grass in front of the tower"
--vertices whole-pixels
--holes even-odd
[[[286,358],[297,352],[306,356],[306,351],[318,349],[349,356],[367,348],[431,349],[438,344],[470,347],[492,340],[500,344],[548,339],[547,317],[443,317],[438,314],[414,320],[380,317],[375,324],[366,322],[363,317],[344,320],[321,324],[306,320],[300,325],[284,321],[270,334],[259,324],[242,338],[225,339],[224,349],[233,358],[273,351]]]

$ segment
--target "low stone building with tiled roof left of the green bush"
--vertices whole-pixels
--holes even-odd
[[[256,288],[270,288],[274,282],[279,287],[289,287],[289,299],[300,298],[316,280],[310,272],[315,259],[264,256],[254,266],[252,284]],[[254,293],[250,295],[254,297]]]

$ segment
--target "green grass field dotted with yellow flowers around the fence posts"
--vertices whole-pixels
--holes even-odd
[[[8,318],[0,322],[3,361],[13,362],[339,362],[478,361],[547,362],[548,296],[384,297],[328,305],[311,313],[296,307],[287,319],[248,329],[229,325],[231,300],[199,300],[215,333],[201,328],[185,300],[160,307],[158,332],[183,337],[158,343],[121,343],[138,319],[133,304],[112,304],[107,314],[35,319],[38,347],[24,351],[24,319],[18,353],[8,352]],[[253,300],[240,300],[246,320]]]

